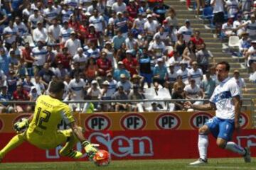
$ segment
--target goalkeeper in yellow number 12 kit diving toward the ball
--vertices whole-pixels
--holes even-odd
[[[85,152],[90,158],[97,149],[90,144],[82,135],[82,128],[75,123],[69,106],[61,102],[64,93],[62,81],[53,81],[50,84],[49,95],[41,95],[36,101],[35,113],[28,119],[14,124],[18,135],[14,136],[9,143],[0,151],[0,162],[4,156],[21,145],[24,141],[41,149],[52,149],[58,145],[65,146],[60,149],[60,155],[78,159],[82,153],[73,150],[78,141],[85,147]],[[58,130],[57,125],[64,119],[70,125],[68,130]],[[25,130],[27,128],[27,130]],[[25,130],[24,132],[22,132]]]

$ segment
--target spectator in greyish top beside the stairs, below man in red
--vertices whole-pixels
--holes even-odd
[[[196,61],[198,62],[198,67],[202,69],[203,74],[205,74],[206,70],[209,68],[210,58],[213,58],[213,54],[207,50],[206,43],[203,42],[201,50],[196,52]]]

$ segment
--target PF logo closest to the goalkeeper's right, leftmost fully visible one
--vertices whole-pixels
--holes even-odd
[[[108,130],[110,125],[110,118],[106,115],[91,115],[85,120],[85,128],[87,130]]]

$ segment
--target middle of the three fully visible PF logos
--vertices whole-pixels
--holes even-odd
[[[121,125],[124,130],[142,130],[146,125],[146,120],[142,115],[133,113],[124,115]]]

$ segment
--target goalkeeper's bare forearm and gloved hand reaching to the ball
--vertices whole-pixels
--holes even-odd
[[[78,137],[78,140],[80,140],[82,146],[85,148],[85,152],[88,154],[88,157],[92,158],[97,152],[97,149],[94,147],[95,145],[92,145],[85,139],[84,135],[82,134],[82,128],[76,125],[75,122],[71,123],[71,128],[75,133],[75,136]]]

